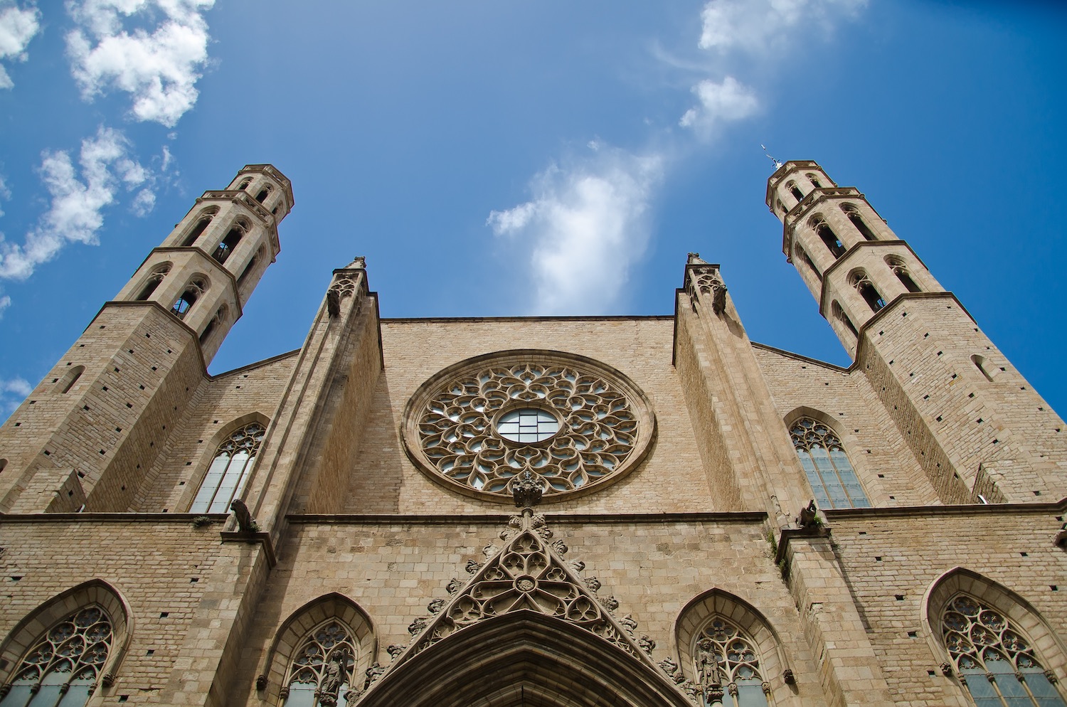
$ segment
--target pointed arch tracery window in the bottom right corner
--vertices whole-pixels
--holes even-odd
[[[941,642],[978,707],[1067,707],[1030,640],[985,602],[953,597],[941,616]]]

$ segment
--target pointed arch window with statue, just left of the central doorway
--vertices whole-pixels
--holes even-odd
[[[331,618],[314,629],[294,654],[282,698],[286,707],[347,707],[355,642],[348,628]]]

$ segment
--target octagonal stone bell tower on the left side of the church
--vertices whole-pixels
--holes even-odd
[[[0,428],[0,512],[136,511],[138,488],[281,246],[269,164],[208,191]]]

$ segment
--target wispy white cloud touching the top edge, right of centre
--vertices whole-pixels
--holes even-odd
[[[767,54],[789,41],[801,23],[832,27],[838,16],[854,16],[866,0],[711,0],[701,12],[701,49],[726,53],[740,49]]]

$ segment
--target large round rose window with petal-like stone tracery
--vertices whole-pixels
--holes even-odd
[[[643,393],[592,359],[512,351],[445,369],[408,405],[409,455],[468,495],[510,500],[527,472],[545,500],[636,465],[654,433]]]

